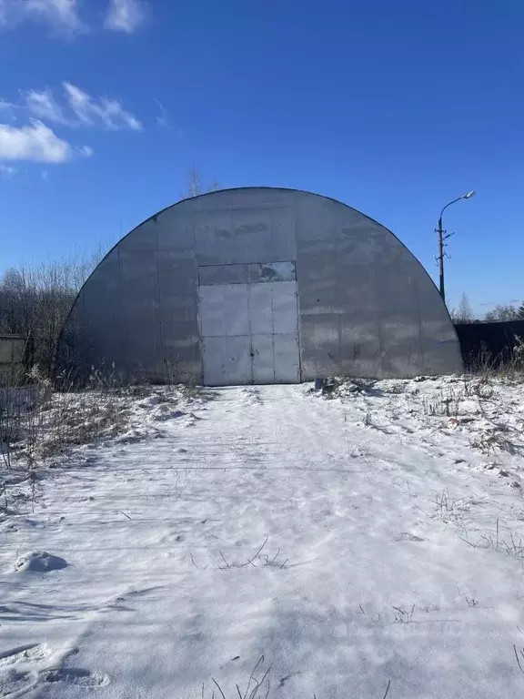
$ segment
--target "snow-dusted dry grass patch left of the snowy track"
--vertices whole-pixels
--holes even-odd
[[[35,367],[0,388],[0,514],[25,501],[34,509],[43,471],[75,448],[113,440],[130,428],[135,433],[137,420],[157,424],[183,415],[181,403],[215,396],[194,386],[120,386],[114,374],[100,370],[92,370],[82,389],[63,375],[57,384],[59,390]],[[158,431],[147,424],[140,434]]]

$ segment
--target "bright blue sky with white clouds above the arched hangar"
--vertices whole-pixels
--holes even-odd
[[[449,305],[524,299],[521,0],[0,0],[0,271],[115,242],[196,166],[393,230]]]

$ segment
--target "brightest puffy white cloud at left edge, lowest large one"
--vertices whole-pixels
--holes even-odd
[[[0,124],[0,159],[57,164],[75,155],[90,157],[93,150],[86,146],[71,147],[37,119],[31,119],[28,125],[20,128]]]

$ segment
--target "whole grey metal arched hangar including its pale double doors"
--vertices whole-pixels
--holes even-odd
[[[78,294],[59,358],[209,386],[462,370],[438,289],[388,228],[273,187],[188,198],[132,230]]]

